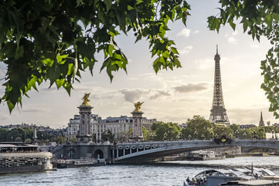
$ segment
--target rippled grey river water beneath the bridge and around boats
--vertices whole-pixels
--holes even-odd
[[[183,185],[186,176],[194,177],[204,169],[244,168],[251,166],[271,169],[279,175],[279,157],[235,157],[211,161],[176,161],[154,164],[116,164],[43,173],[17,173],[0,176],[0,185]]]

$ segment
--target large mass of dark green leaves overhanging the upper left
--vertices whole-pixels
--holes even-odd
[[[128,60],[114,38],[135,32],[136,42],[149,41],[153,69],[181,67],[174,41],[165,36],[169,21],[186,24],[190,6],[183,0],[6,0],[0,1],[0,61],[7,65],[8,109],[22,104],[22,95],[50,80],[68,94],[80,70],[93,71],[95,54],[103,51],[112,72],[126,71]]]

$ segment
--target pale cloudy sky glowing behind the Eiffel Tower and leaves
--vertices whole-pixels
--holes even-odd
[[[179,49],[182,68],[160,70],[152,68],[149,44],[145,40],[135,43],[133,32],[121,35],[116,42],[128,57],[128,74],[123,70],[114,72],[114,79],[105,70],[100,71],[103,54],[97,54],[93,77],[83,72],[80,83],[75,82],[71,95],[49,83],[39,87],[39,92],[29,92],[23,98],[22,108],[17,107],[9,114],[6,104],[0,105],[0,125],[36,123],[50,127],[63,127],[70,118],[78,114],[84,93],[91,93],[89,103],[92,113],[102,118],[108,116],[131,116],[134,102],[144,102],[142,111],[147,118],[158,121],[185,123],[195,115],[208,119],[213,99],[214,55],[216,45],[220,54],[223,98],[230,123],[259,123],[262,111],[264,121],[278,122],[269,112],[269,101],[260,88],[260,61],[265,59],[271,47],[265,38],[260,42],[243,33],[242,25],[236,30],[230,26],[209,31],[207,17],[217,15],[220,7],[217,0],[191,0],[187,26],[181,21],[169,23],[167,37],[174,40]],[[6,73],[0,63],[0,79]],[[3,84],[3,81],[0,82]],[[0,86],[0,95],[4,87]],[[0,96],[1,97],[1,96]]]

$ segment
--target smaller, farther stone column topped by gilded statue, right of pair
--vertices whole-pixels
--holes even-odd
[[[133,114],[133,137],[136,141],[142,140],[142,114],[144,114],[140,108],[144,102],[136,102],[135,103],[135,110],[131,112]]]

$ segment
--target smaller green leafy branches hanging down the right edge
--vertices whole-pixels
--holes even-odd
[[[209,29],[219,31],[220,26],[229,24],[235,29],[241,20],[243,32],[253,39],[266,36],[272,47],[261,62],[264,83],[261,88],[269,99],[269,111],[279,118],[279,0],[220,0],[222,8],[217,16],[208,18]]]

